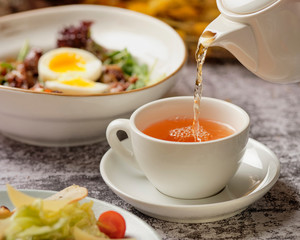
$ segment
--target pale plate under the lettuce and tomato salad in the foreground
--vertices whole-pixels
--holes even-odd
[[[53,191],[41,191],[41,190],[22,190],[22,192],[38,198],[46,198],[50,195],[52,195]],[[145,239],[145,240],[160,240],[161,238],[159,235],[154,231],[152,227],[147,225],[145,222],[143,222],[140,218],[136,217],[130,212],[127,212],[126,210],[116,207],[114,205],[111,205],[109,203],[99,201],[94,198],[85,198],[83,201],[93,201],[94,206],[93,210],[95,213],[95,216],[99,216],[100,213],[108,211],[108,210],[114,210],[118,213],[120,213],[126,221],[126,237],[131,237],[135,239]],[[13,209],[13,205],[11,204],[6,191],[0,191],[0,205],[4,205],[8,207],[9,209]]]

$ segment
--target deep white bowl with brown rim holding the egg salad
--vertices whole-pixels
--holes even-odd
[[[16,56],[25,40],[42,49],[56,46],[64,26],[91,20],[92,37],[109,49],[126,47],[149,65],[151,86],[115,94],[68,96],[0,86],[0,131],[13,139],[41,146],[75,146],[104,138],[115,118],[162,97],[186,61],[186,47],[170,26],[137,12],[99,5],[68,5],[0,18],[0,59]]]

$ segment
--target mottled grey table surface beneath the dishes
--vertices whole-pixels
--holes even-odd
[[[195,76],[195,64],[187,64],[166,96],[192,95]],[[183,224],[140,213],[115,195],[100,176],[99,162],[109,149],[106,141],[47,148],[0,134],[0,190],[6,183],[19,189],[43,190],[61,190],[71,184],[85,186],[89,196],[134,213],[162,239],[300,239],[300,84],[268,83],[237,62],[207,62],[203,95],[244,108],[251,117],[250,137],[269,147],[281,163],[274,187],[236,216],[212,223]]]

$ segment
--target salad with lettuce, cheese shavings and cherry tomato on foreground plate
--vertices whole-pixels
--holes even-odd
[[[7,185],[13,211],[0,207],[0,240],[123,239],[126,222],[116,211],[98,218],[93,201],[80,203],[87,189],[72,185],[47,199],[33,198]],[[1,199],[0,199],[1,204]]]

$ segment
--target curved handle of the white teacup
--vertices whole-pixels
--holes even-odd
[[[118,154],[122,155],[129,165],[141,170],[135,160],[133,151],[125,147],[117,136],[118,131],[124,131],[131,141],[130,124],[128,119],[116,119],[109,123],[106,129],[106,139],[110,147]]]

